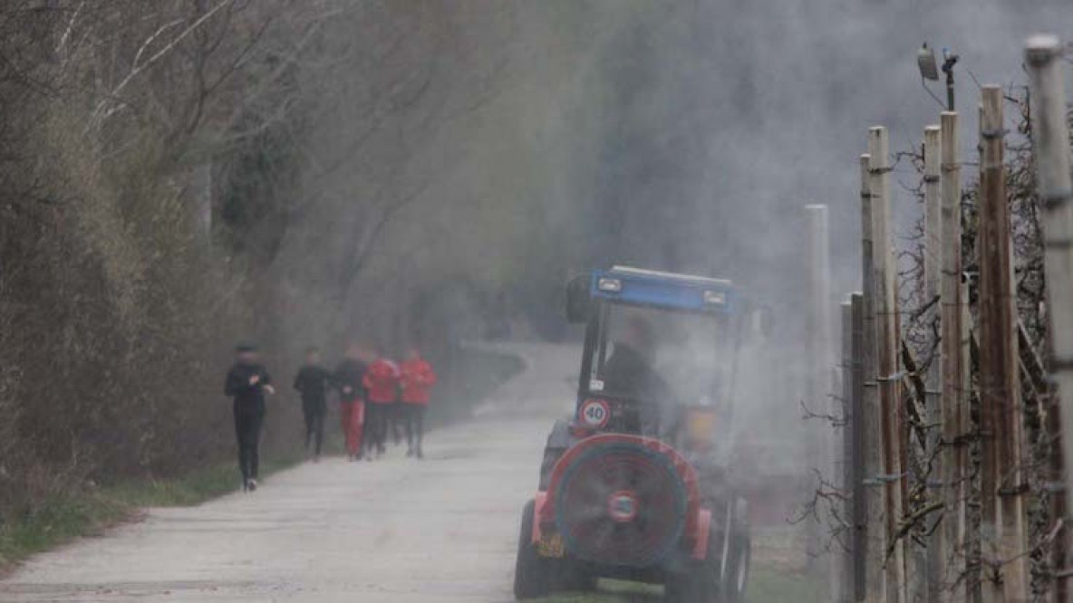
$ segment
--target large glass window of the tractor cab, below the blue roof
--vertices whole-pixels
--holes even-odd
[[[721,402],[732,338],[720,317],[604,303],[597,321],[591,393],[659,406]]]

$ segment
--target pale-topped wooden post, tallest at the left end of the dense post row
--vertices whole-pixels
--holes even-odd
[[[906,540],[897,539],[898,523],[903,515],[902,486],[902,412],[898,383],[898,337],[896,312],[897,267],[891,236],[891,160],[886,128],[868,131],[868,155],[871,156],[870,192],[872,208],[872,263],[876,267],[876,334],[880,420],[883,424],[883,481],[886,546],[892,548],[886,563],[886,601],[906,601]]]

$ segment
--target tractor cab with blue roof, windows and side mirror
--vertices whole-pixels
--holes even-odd
[[[732,416],[746,306],[716,278],[615,266],[572,281],[568,319],[586,325],[576,427],[710,448],[716,416],[722,426]],[[622,355],[631,362],[617,363]],[[649,383],[631,374],[646,370],[642,362]],[[587,403],[594,399],[603,403]]]

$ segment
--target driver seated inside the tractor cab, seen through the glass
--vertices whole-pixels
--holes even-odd
[[[671,387],[653,367],[658,350],[652,324],[642,317],[630,317],[603,369],[608,392],[637,400],[641,433],[648,437],[671,433],[676,424]]]

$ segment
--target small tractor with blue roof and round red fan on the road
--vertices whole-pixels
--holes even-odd
[[[523,511],[517,599],[609,577],[677,603],[744,600],[748,505],[730,458],[753,315],[726,280],[616,266],[568,283],[567,318],[585,324],[577,399]]]

